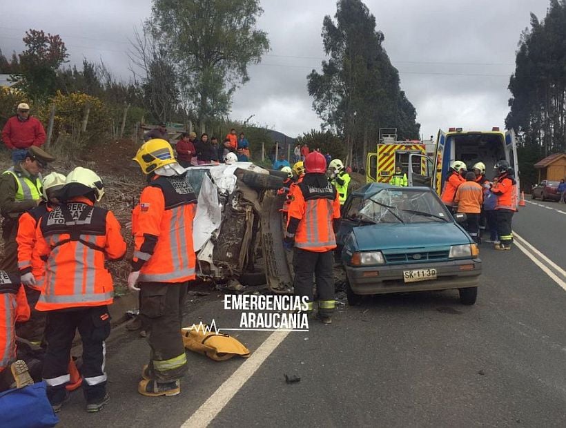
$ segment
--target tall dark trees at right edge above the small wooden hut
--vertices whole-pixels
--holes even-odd
[[[542,148],[540,157],[566,150],[565,41],[566,1],[551,0],[543,21],[531,14],[509,79],[511,110],[505,124],[523,136],[524,150]]]

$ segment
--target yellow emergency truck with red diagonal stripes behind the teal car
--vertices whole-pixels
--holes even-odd
[[[389,183],[398,166],[401,167],[403,173],[407,174],[407,177],[409,177],[409,171],[422,176],[427,175],[427,168],[430,168],[425,160],[427,159],[427,148],[430,149],[429,145],[418,139],[398,141],[396,128],[380,128],[376,150],[367,154],[366,182]],[[411,157],[411,155],[416,156]],[[409,186],[413,185],[422,186],[423,183],[412,184],[409,180]]]

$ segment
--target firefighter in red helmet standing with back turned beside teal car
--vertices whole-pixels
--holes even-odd
[[[318,152],[307,155],[306,174],[293,191],[289,206],[284,245],[295,246],[295,294],[309,298],[313,310],[313,275],[318,291],[318,318],[324,324],[332,322],[335,307],[333,249],[336,239],[333,221],[340,218],[338,191],[326,179],[326,159]]]

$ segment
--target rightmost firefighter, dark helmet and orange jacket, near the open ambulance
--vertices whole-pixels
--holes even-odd
[[[497,196],[496,219],[497,234],[499,235],[499,244],[495,245],[495,249],[510,250],[511,242],[513,242],[511,220],[513,214],[517,211],[517,182],[509,162],[499,161],[494,169],[497,177],[494,179],[491,193]]]

